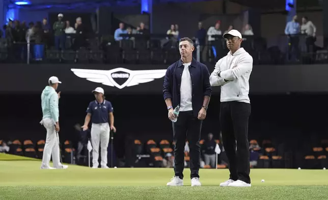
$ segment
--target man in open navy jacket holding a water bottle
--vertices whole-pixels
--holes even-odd
[[[163,83],[163,96],[173,123],[174,172],[175,176],[168,186],[183,185],[184,146],[188,140],[190,148],[190,179],[192,186],[201,186],[200,137],[202,120],[206,117],[207,107],[212,94],[209,71],[206,65],[193,58],[194,42],[189,38],[179,41],[181,59],[169,66]],[[179,116],[174,108],[180,106]]]

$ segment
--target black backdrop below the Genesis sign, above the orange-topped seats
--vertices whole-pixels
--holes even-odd
[[[23,85],[22,85],[23,87]],[[272,139],[289,145],[302,145],[311,137],[327,136],[328,95],[251,95],[252,115],[249,139]],[[39,124],[42,118],[40,94],[1,94],[1,139],[44,139],[45,129]],[[85,111],[94,97],[90,94],[62,93],[60,99],[60,138],[76,140],[75,123],[83,123]],[[117,134],[114,144],[119,157],[124,156],[128,135],[142,140],[172,140],[171,122],[167,118],[161,95],[111,95]],[[220,97],[213,96],[203,123],[202,138],[212,132],[220,134],[218,113]]]

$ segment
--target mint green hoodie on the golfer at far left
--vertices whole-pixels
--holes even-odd
[[[41,94],[41,107],[44,118],[53,119],[58,122],[59,109],[58,109],[58,94],[53,87],[46,86]]]

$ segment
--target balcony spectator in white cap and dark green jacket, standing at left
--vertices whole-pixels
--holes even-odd
[[[58,21],[53,23],[54,31],[54,46],[57,50],[65,49],[65,23],[63,21],[64,15],[62,13],[58,14]]]

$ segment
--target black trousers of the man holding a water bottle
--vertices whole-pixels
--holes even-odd
[[[186,140],[189,143],[190,178],[199,178],[202,120],[194,117],[193,111],[180,112],[178,120],[173,122],[174,145],[174,173],[183,179],[184,146]]]

